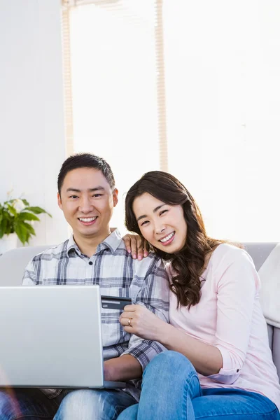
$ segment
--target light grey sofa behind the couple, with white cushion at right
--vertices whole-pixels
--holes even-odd
[[[50,246],[16,248],[0,256],[0,287],[20,286],[27,263]],[[245,243],[257,269],[262,289],[260,302],[267,320],[269,346],[280,378],[280,244],[272,242]],[[279,308],[279,310],[278,310]]]

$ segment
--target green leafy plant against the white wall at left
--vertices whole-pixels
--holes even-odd
[[[36,235],[32,226],[34,221],[40,221],[36,214],[41,213],[52,217],[41,207],[30,207],[29,202],[22,198],[0,203],[0,239],[15,232],[22,244],[28,244],[31,235]]]

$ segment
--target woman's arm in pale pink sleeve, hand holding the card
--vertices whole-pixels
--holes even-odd
[[[214,375],[213,379],[223,383],[233,383],[246,358],[255,291],[259,284],[251,258],[238,248],[233,256],[223,271],[216,273],[217,321],[213,344],[163,323],[139,305],[125,307],[121,323],[128,325],[131,318],[131,326],[125,330],[179,351],[201,374]]]

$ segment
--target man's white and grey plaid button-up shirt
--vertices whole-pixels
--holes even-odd
[[[118,230],[99,244],[90,258],[80,252],[73,235],[64,243],[36,255],[25,269],[23,285],[41,284],[98,284],[102,295],[131,297],[132,303],[144,304],[169,321],[169,286],[162,261],[153,254],[141,261],[134,260],[127,253]],[[165,347],[125,332],[120,325],[120,314],[121,311],[102,308],[104,360],[131,354],[144,370]],[[128,381],[126,390],[138,398],[139,386],[140,381]],[[42,391],[49,398],[55,398],[61,390]]]

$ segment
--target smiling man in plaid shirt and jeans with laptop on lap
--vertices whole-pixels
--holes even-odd
[[[73,235],[36,255],[27,265],[24,285],[99,284],[102,295],[130,295],[168,321],[168,285],[162,262],[155,255],[134,260],[118,230],[111,233],[118,190],[111,167],[89,153],[66,159],[57,179],[57,201]],[[116,419],[139,399],[142,372],[164,348],[123,330],[115,318],[104,318],[104,379],[126,381],[125,390],[25,390],[15,396],[0,392],[0,419]],[[35,339],[35,337],[34,337]],[[15,404],[15,400],[17,404]],[[55,412],[57,414],[55,414]]]

